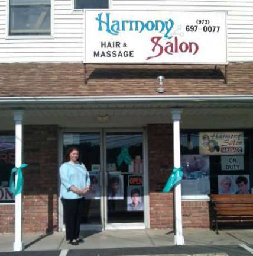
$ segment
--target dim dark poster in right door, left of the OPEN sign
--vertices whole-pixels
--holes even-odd
[[[108,200],[124,199],[123,191],[124,191],[123,175],[109,173]]]

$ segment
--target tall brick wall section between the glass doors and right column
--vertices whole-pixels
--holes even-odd
[[[173,193],[161,193],[173,167],[173,127],[148,125],[151,228],[173,227]]]

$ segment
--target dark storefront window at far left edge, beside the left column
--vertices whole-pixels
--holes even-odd
[[[0,203],[14,201],[14,196],[9,192],[9,175],[15,166],[15,136],[0,134]]]

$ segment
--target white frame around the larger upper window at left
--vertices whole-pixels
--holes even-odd
[[[54,0],[50,0],[50,34],[48,35],[9,35],[10,0],[7,0],[5,39],[53,39],[54,38]]]

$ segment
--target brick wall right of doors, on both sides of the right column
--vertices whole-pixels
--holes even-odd
[[[173,228],[173,191],[161,193],[173,167],[173,126],[148,125],[151,228]],[[208,201],[182,201],[183,227],[209,228]]]

